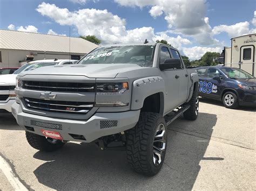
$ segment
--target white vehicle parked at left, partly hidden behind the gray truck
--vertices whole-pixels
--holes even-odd
[[[77,62],[77,60],[37,60],[31,61],[21,68],[17,69],[13,74],[0,75],[0,111],[11,112],[11,105],[15,102],[16,95],[14,89],[16,86],[16,76],[23,70],[31,70],[43,66],[53,65],[69,65]]]

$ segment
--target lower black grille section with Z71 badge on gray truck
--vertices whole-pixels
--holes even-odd
[[[28,97],[24,97],[23,101],[25,107],[29,109],[62,112],[65,114],[86,114],[93,107],[92,102],[41,100]]]

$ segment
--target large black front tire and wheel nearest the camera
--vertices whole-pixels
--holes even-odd
[[[126,132],[126,157],[134,171],[152,176],[163,166],[167,127],[162,116],[142,112],[136,126]]]

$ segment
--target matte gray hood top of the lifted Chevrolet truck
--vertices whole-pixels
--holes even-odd
[[[46,66],[22,72],[24,75],[83,75],[86,77],[114,78],[118,73],[124,73],[131,70],[141,69],[136,64],[87,64],[87,65],[60,65]]]

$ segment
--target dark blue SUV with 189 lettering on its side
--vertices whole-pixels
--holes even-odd
[[[223,102],[226,108],[256,106],[256,79],[242,69],[207,66],[196,68],[199,96]]]

